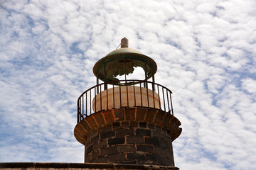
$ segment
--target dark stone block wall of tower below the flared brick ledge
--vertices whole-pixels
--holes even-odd
[[[87,137],[85,162],[174,165],[171,135],[161,128],[149,129],[147,124],[122,121],[100,126]]]

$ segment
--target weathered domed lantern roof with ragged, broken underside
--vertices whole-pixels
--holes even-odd
[[[146,79],[151,78],[157,69],[156,62],[142,52],[129,47],[121,47],[110,52],[96,62],[93,73],[102,81],[116,81],[117,75],[132,74],[135,67],[142,67]]]

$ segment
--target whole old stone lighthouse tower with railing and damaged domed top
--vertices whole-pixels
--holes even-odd
[[[172,142],[181,135],[181,123],[174,117],[171,91],[155,82],[156,69],[154,60],[129,48],[127,38],[96,62],[97,84],[78,98],[74,131],[85,145],[85,163],[177,169]]]

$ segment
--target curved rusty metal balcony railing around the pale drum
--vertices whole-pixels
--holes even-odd
[[[78,98],[78,123],[88,115],[112,108],[157,108],[174,115],[171,94],[171,90],[151,81],[120,80],[98,84]]]

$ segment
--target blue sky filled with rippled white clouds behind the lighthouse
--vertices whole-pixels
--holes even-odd
[[[180,169],[256,169],[256,1],[0,0],[0,162],[83,162],[76,101],[124,37],[158,64]]]

